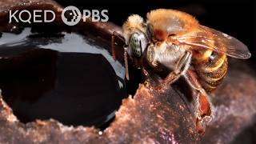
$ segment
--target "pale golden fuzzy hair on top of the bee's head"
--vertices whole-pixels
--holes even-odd
[[[131,15],[127,21],[122,25],[123,36],[126,38],[126,41],[129,40],[130,34],[134,32],[143,32],[145,33],[145,23],[141,16],[138,14]],[[127,42],[126,42],[127,43]]]

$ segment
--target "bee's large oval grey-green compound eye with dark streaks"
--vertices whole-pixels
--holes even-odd
[[[130,56],[140,58],[142,56],[142,52],[146,49],[146,43],[144,34],[131,34],[128,50]]]

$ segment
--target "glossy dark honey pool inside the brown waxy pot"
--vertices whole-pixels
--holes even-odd
[[[0,88],[21,122],[54,118],[102,128],[126,97],[124,67],[104,46],[75,33],[3,33]]]

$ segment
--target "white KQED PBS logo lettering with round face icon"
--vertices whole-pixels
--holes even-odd
[[[91,22],[107,22],[108,10],[78,10],[75,6],[67,6],[62,10],[62,21],[68,26],[74,26],[78,22],[86,22],[89,18]],[[24,22],[54,22],[55,13],[53,10],[9,10],[9,23]]]

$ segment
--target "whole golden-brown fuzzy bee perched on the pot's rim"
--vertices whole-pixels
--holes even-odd
[[[156,90],[165,89],[180,77],[186,78],[196,91],[195,125],[203,134],[214,118],[209,94],[226,75],[227,56],[250,58],[248,48],[238,39],[202,26],[193,16],[178,10],[152,10],[146,14],[146,22],[137,14],[130,15],[122,30],[123,36],[114,36],[126,42],[126,78],[129,79],[127,54],[134,66],[142,68],[147,82],[155,83]],[[164,72],[167,74],[162,77]]]

